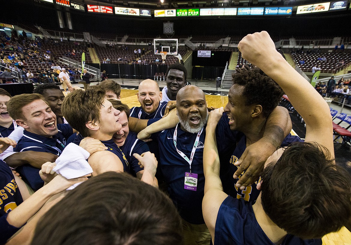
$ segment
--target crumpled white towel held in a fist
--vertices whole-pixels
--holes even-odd
[[[85,176],[93,172],[93,169],[86,161],[89,156],[90,153],[82,147],[70,143],[56,159],[56,166],[53,170],[67,179]]]

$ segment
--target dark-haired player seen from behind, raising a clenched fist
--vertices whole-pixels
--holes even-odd
[[[351,184],[349,174],[334,162],[328,105],[276,51],[267,32],[247,35],[238,48],[243,58],[262,69],[289,96],[305,120],[306,138],[305,143],[279,148],[267,159],[263,181],[257,186],[261,193],[251,209],[243,200],[228,197],[223,191],[215,137],[223,107],[211,112],[204,149],[203,214],[212,241],[215,245],[238,244],[243,239],[254,244],[259,240],[266,244],[300,244],[299,239],[287,234],[311,239],[339,230],[350,217]],[[251,227],[256,232],[242,234],[240,224],[245,217],[241,214],[251,216],[247,222],[253,222]],[[291,242],[287,243],[287,239]],[[312,244],[320,244],[320,240]]]

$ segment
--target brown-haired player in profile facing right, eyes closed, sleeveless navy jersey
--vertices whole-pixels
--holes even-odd
[[[88,158],[94,170],[93,176],[107,171],[129,171],[130,167],[124,153],[112,139],[114,133],[122,127],[119,122],[120,111],[116,110],[105,96],[105,91],[99,87],[85,91],[77,90],[70,93],[62,105],[68,123],[76,128],[82,137],[91,136],[108,147],[107,151],[95,152]],[[145,158],[157,166],[157,161],[151,153],[141,157],[138,154],[134,156],[139,161]],[[153,184],[155,172],[156,169],[153,168],[144,169],[141,180]]]

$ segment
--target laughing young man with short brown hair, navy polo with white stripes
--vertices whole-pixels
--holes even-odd
[[[15,152],[62,153],[73,129],[68,124],[57,124],[55,113],[41,94],[16,95],[7,105],[10,116],[24,128],[23,137],[14,148]],[[25,164],[18,167],[17,171],[33,190],[39,190],[44,185],[38,168]]]

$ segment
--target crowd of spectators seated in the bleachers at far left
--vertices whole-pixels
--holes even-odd
[[[0,36],[0,81],[2,83],[17,82],[22,79],[24,82],[37,84],[60,82],[58,76],[64,67],[71,81],[78,79],[81,71],[77,68],[54,62],[53,57],[57,53],[50,48],[50,43],[52,42],[48,39],[39,37],[35,40],[23,36],[9,38],[2,33]]]

